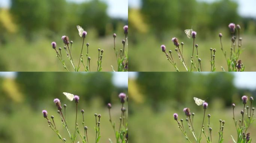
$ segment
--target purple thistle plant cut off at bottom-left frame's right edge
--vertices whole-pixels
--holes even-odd
[[[112,105],[109,103],[107,104],[107,108],[109,109],[109,122],[112,125],[112,128],[115,133],[116,143],[128,143],[128,120],[126,115],[126,109],[124,107],[125,100],[128,101],[125,93],[119,94],[120,102],[122,104],[121,107],[121,117],[119,118],[119,127],[116,129],[116,123],[112,121],[111,118],[111,108]],[[113,143],[111,139],[109,139],[110,143]]]

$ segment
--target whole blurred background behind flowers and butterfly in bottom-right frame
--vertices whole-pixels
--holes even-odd
[[[256,73],[248,72],[129,72],[129,140],[138,143],[185,143],[186,139],[173,114],[178,113],[179,120],[185,120],[183,108],[190,108],[191,112],[195,112],[193,127],[198,134],[204,114],[202,106],[197,106],[193,100],[193,97],[198,97],[208,102],[206,115],[211,115],[213,142],[217,142],[219,138],[221,119],[226,121],[224,142],[231,143],[230,135],[237,137],[231,104],[236,105],[235,118],[241,119],[241,97],[247,95],[256,98],[255,79]],[[254,101],[253,107],[255,105]],[[191,132],[188,128],[186,130],[190,140],[194,142]],[[256,122],[251,124],[248,132],[253,138],[252,143],[256,143]],[[202,143],[205,143],[204,139]]]

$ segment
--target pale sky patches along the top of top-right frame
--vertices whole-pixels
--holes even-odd
[[[213,2],[218,0],[197,0],[197,1],[206,1]],[[238,13],[241,16],[254,17],[256,18],[256,0],[233,0],[238,3]],[[129,0],[129,7],[139,8],[141,6],[141,0]]]

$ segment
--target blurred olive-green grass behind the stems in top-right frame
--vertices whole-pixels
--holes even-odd
[[[171,33],[172,34],[172,33]],[[173,42],[171,38],[177,37],[179,42],[184,42],[183,54],[185,57],[185,62],[190,67],[190,57],[192,55],[192,46],[193,39],[186,38],[186,35],[174,35],[168,34],[165,36],[163,40],[158,40],[156,36],[152,34],[140,35],[136,37],[136,42],[132,42],[130,39],[129,43],[129,57],[130,57],[130,68],[129,71],[175,71],[174,67],[166,60],[165,54],[162,52],[160,46],[164,44],[167,47],[167,51],[172,50],[174,61],[177,63],[180,71],[185,71],[185,67],[183,67],[182,63],[180,63],[177,53],[175,53]],[[180,34],[180,32],[179,32]],[[227,64],[225,61],[225,57],[220,50],[220,39],[217,36],[218,33],[215,33],[215,38],[205,38],[197,34],[197,38],[195,39],[195,44],[198,44],[198,53],[199,58],[201,58],[202,71],[210,71],[210,48],[216,48],[216,61],[215,67],[216,71],[222,71],[221,66],[227,70]],[[223,49],[227,52],[229,56],[231,41],[228,34],[223,34],[222,42]],[[162,35],[161,35],[162,36]],[[256,41],[255,35],[241,35],[243,37],[242,48],[243,53],[240,55],[242,63],[246,66],[245,71],[256,71],[255,60],[256,60]],[[196,51],[194,51],[195,54]],[[197,61],[196,61],[196,64]]]

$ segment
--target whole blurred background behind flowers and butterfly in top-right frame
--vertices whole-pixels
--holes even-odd
[[[210,71],[210,48],[216,48],[216,71],[223,66],[225,57],[220,50],[219,33],[223,34],[223,48],[229,56],[231,35],[229,23],[241,26],[243,53],[240,55],[245,71],[255,71],[256,11],[255,0],[129,0],[129,71],[175,71],[160,46],[172,50],[180,71],[185,68],[174,53],[171,38],[184,42],[183,54],[190,65],[193,39],[184,30],[197,32],[195,44],[202,62],[202,71]],[[245,11],[245,12],[244,12]],[[195,52],[195,51],[194,51]],[[145,64],[147,63],[147,64]]]

